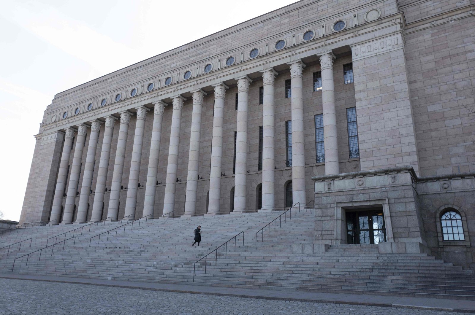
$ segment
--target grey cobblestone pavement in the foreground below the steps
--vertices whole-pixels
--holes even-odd
[[[449,315],[404,308],[273,301],[0,279],[0,314]]]

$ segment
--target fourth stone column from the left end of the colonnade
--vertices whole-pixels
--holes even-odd
[[[114,123],[117,118],[106,116],[104,139],[102,140],[101,159],[99,160],[99,169],[97,170],[97,181],[95,184],[94,203],[92,205],[91,222],[102,219],[104,204],[105,183],[107,181],[107,171],[109,170],[109,158],[111,156],[112,134],[114,132]]]

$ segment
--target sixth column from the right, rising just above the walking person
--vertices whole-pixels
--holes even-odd
[[[190,154],[188,158],[188,177],[186,180],[186,199],[184,216],[196,215],[196,193],[198,191],[199,140],[201,138],[202,90],[193,91],[193,114],[191,117]]]

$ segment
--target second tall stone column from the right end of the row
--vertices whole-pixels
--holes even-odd
[[[297,61],[290,65],[292,84],[292,200],[305,206],[305,147],[304,147],[304,94],[302,72],[304,63]]]

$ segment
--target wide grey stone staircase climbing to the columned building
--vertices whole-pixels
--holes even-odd
[[[427,254],[380,254],[377,245],[331,246],[324,254],[295,254],[293,244],[313,243],[314,212],[302,211],[287,215],[261,233],[255,233],[277,217],[277,213],[244,213],[221,216],[155,219],[141,226],[134,223],[131,231],[120,229],[109,240],[92,236],[107,231],[119,222],[106,223],[95,231],[77,236],[76,247],[66,244],[40,260],[31,255],[18,259],[14,272],[21,274],[57,275],[77,278],[97,278],[163,283],[190,283],[220,287],[266,288],[350,294],[398,295],[475,300],[475,276],[471,270],[435,259]],[[129,224],[130,225],[130,224]],[[193,230],[202,226],[201,246],[191,247]],[[68,225],[71,230],[72,225]],[[47,232],[48,229],[55,232]],[[47,235],[63,227],[39,227],[35,248],[46,244]],[[32,233],[33,233],[33,229]],[[267,235],[270,230],[270,236]],[[207,258],[195,262],[228,241],[238,232],[236,251],[234,241]],[[33,235],[33,234],[31,234]],[[26,235],[24,235],[26,236]],[[50,237],[50,236],[48,236]],[[96,241],[95,241],[96,240]],[[33,251],[21,249],[15,255],[0,252],[0,270],[10,271],[13,259]],[[37,256],[36,256],[37,257]]]

